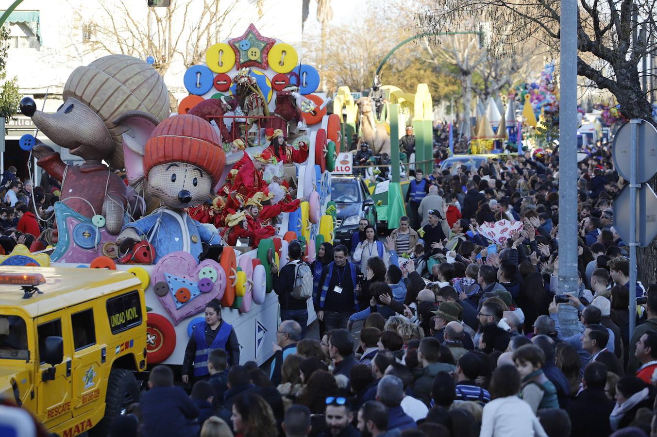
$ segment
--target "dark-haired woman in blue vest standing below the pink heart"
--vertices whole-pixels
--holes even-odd
[[[205,308],[205,320],[194,325],[193,333],[187,342],[183,359],[183,382],[189,383],[189,375],[194,380],[206,380],[208,355],[214,349],[223,349],[228,354],[228,365],[240,363],[240,344],[235,329],[221,319],[221,304],[212,299]]]

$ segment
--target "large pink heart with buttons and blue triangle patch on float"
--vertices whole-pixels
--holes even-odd
[[[177,325],[203,311],[210,300],[223,297],[226,273],[213,260],[198,263],[189,252],[178,251],[163,256],[155,265],[152,283],[166,284],[168,292],[158,293],[158,299]]]

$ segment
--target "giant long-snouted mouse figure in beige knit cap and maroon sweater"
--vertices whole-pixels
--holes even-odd
[[[63,98],[57,112],[47,114],[26,97],[20,101],[20,112],[31,117],[54,143],[85,162],[67,166],[54,150],[36,145],[37,164],[62,183],[61,199],[67,206],[89,218],[102,214],[107,230],[116,235],[134,192],[127,191],[102,160],[112,168],[124,167],[122,134],[129,126],[116,121],[122,114],[139,111],[153,124],[168,116],[166,85],[143,60],[110,55],[76,68],[64,85]]]

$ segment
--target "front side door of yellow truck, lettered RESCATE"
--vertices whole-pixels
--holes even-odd
[[[37,386],[37,417],[46,428],[52,428],[72,417],[71,405],[71,365],[72,344],[70,335],[70,320],[65,310],[43,315],[36,319],[37,343],[39,348],[39,373],[35,375]],[[45,350],[45,339],[49,336],[62,337],[64,340],[64,359],[56,364],[54,371],[51,365],[41,358]],[[54,372],[54,373],[53,373]]]

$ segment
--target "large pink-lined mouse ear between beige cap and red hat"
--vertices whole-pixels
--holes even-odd
[[[143,111],[127,111],[114,120],[126,127],[122,133],[125,173],[131,185],[144,178],[144,150],[152,131],[160,121]]]

